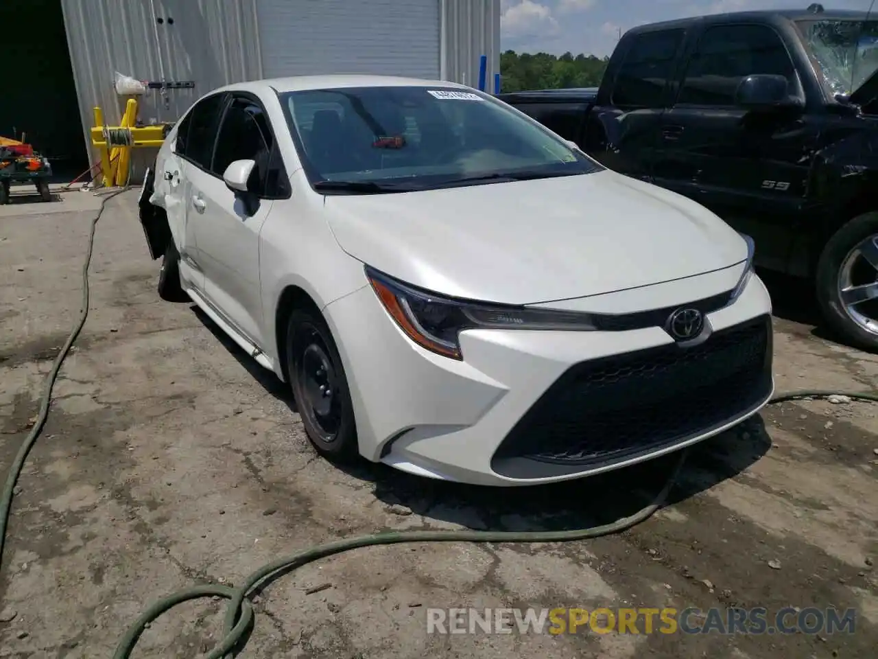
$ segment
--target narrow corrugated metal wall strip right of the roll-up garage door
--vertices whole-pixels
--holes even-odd
[[[401,4],[401,3],[400,3]],[[479,86],[479,57],[487,55],[486,91],[500,73],[500,0],[441,0],[442,78]]]

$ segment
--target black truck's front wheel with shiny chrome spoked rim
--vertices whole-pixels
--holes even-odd
[[[878,352],[878,211],[853,218],[826,243],[817,263],[817,300],[833,329]]]

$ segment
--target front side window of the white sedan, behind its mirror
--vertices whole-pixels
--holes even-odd
[[[211,170],[221,177],[235,160],[255,160],[254,176],[263,193],[268,178],[271,133],[262,107],[248,98],[234,98],[223,115]]]

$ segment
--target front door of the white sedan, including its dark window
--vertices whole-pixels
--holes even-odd
[[[191,206],[198,258],[205,272],[205,298],[234,329],[264,346],[259,278],[259,234],[271,212],[266,194],[274,137],[255,96],[235,92],[219,123],[210,170],[191,178]],[[223,180],[229,164],[253,160],[251,191],[235,192]]]

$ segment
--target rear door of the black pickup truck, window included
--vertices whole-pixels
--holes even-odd
[[[620,42],[620,63],[608,68],[586,128],[587,153],[609,169],[651,180],[669,82],[685,36],[681,28],[650,30]]]

